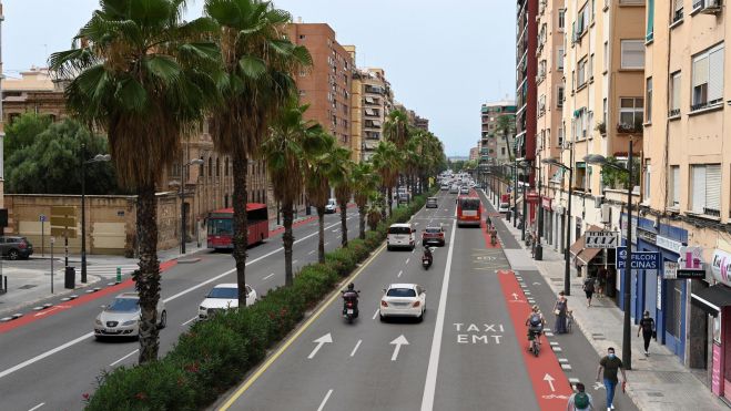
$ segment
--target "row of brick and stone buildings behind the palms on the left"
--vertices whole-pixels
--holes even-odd
[[[357,68],[356,48],[339,44],[328,24],[292,23],[288,35],[296,44],[305,45],[313,56],[309,70],[295,73],[299,100],[302,104],[309,104],[306,119],[321,123],[342,146],[351,148],[354,161],[367,161],[373,155],[384,137],[386,116],[393,110],[405,111],[412,125],[428,130],[427,120],[394,100],[385,71]],[[54,81],[53,73],[33,68],[20,74],[20,78],[6,78],[0,82],[2,122],[12,123],[27,112],[45,114],[54,121],[67,116],[63,83]],[[187,222],[186,237],[205,244],[207,213],[232,207],[233,165],[226,155],[216,152],[207,121],[200,125],[197,133],[186,138],[180,153],[181,160],[165,169],[159,179],[161,249],[180,243],[181,218]],[[1,142],[0,134],[0,153]],[[193,158],[201,158],[203,164],[184,166]],[[1,169],[0,166],[0,173]],[[250,162],[248,175],[248,201],[266,204],[270,217],[276,216],[277,205],[271,192],[266,165],[261,161]],[[185,193],[182,201],[179,195],[181,184]],[[88,196],[88,253],[132,254],[135,239],[134,197]],[[306,204],[303,195],[296,205],[299,215],[306,213]],[[9,213],[4,233],[26,235],[37,248],[40,248],[43,237],[41,232],[47,234],[45,243],[50,238],[49,224],[43,225],[39,216],[50,215],[52,206],[68,205],[80,206],[80,198],[7,194],[3,202],[0,185],[0,209]],[[80,238],[70,240],[72,253],[80,249]]]

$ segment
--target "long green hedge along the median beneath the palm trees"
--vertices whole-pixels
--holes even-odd
[[[268,291],[247,309],[195,322],[159,361],[120,367],[99,379],[87,410],[200,410],[237,384],[334,287],[386,238],[388,226],[407,222],[426,196],[394,210],[365,240],[327,253],[325,264],[303,267],[292,287]]]

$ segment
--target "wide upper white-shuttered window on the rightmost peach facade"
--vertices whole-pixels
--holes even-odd
[[[693,93],[691,111],[723,100],[723,44],[693,58]]]

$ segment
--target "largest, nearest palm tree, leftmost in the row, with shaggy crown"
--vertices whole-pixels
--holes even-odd
[[[193,42],[205,19],[182,21],[183,0],[100,0],[73,49],[53,53],[49,66],[69,80],[65,99],[72,115],[105,129],[120,183],[136,195],[140,269],[141,363],[156,360],[156,305],[160,299],[155,188],[162,171],[180,153],[181,133],[202,117],[216,96],[210,76],[217,52]]]

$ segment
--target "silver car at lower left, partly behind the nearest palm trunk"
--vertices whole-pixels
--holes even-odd
[[[139,337],[140,336],[140,296],[136,292],[123,292],[109,306],[102,306],[102,312],[94,320],[94,337]],[[158,300],[158,328],[167,325],[165,302]]]

